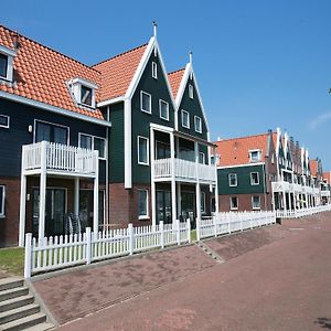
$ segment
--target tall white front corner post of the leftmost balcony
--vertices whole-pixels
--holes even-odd
[[[39,199],[39,241],[45,236],[45,207],[46,207],[46,152],[47,142],[41,142],[41,174]]]

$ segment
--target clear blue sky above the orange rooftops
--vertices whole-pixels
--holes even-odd
[[[193,65],[212,138],[279,126],[331,170],[331,1],[4,1],[0,22],[84,63],[142,44]]]

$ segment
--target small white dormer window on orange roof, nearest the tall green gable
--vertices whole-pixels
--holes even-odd
[[[75,78],[70,82],[70,86],[78,105],[95,108],[95,90],[97,86],[94,83],[83,78]]]

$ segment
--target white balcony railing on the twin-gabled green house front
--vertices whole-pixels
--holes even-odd
[[[214,166],[195,163],[182,159],[174,159],[174,177],[183,180],[196,180],[204,182],[215,182],[216,172]],[[170,179],[172,177],[172,159],[158,159],[153,161],[154,178]]]

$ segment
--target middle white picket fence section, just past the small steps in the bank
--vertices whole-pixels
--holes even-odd
[[[218,213],[217,216],[213,216],[207,220],[196,220],[196,237],[197,241],[200,241],[206,237],[231,234],[232,232],[275,223],[275,212]]]

